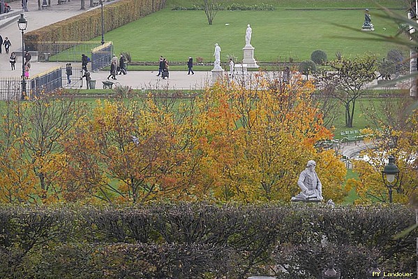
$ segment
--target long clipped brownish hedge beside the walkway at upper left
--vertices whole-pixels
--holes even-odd
[[[103,7],[105,32],[117,29],[129,22],[161,10],[166,0],[124,0]],[[88,3],[88,2],[86,2]],[[25,34],[28,50],[38,50],[39,41],[90,40],[101,34],[101,10],[96,8],[86,13],[56,22],[47,27]]]

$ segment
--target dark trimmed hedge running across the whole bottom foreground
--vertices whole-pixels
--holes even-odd
[[[405,206],[151,204],[0,209],[0,278],[342,278],[415,270]]]

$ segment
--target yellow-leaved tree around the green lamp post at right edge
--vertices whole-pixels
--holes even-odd
[[[369,137],[366,142],[375,149],[366,149],[361,156],[367,160],[354,162],[354,171],[359,179],[350,179],[348,188],[355,188],[360,199],[357,202],[387,202],[388,190],[382,181],[382,169],[387,164],[387,156],[396,158],[400,169],[398,185],[402,193],[394,194],[395,202],[407,202],[416,193],[418,182],[418,112],[409,109],[414,103],[408,96],[387,97],[364,107],[371,128],[364,129]]]

